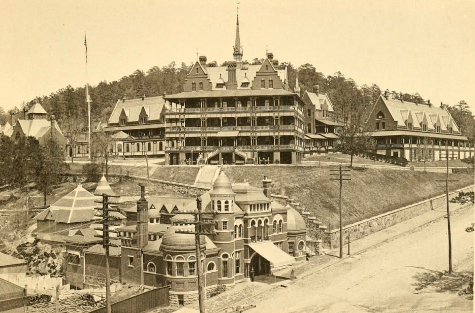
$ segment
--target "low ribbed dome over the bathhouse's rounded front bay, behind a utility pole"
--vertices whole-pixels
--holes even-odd
[[[195,235],[176,233],[176,230],[194,231],[195,226],[171,226],[163,234],[162,247],[164,250],[195,251]],[[205,246],[205,236],[200,235],[200,247]]]

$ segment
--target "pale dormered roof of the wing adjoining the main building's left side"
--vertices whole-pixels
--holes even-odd
[[[108,125],[118,124],[122,111],[124,111],[127,116],[127,122],[139,122],[139,115],[142,109],[147,112],[148,121],[159,121],[164,105],[165,100],[162,96],[148,97],[143,100],[142,98],[126,99],[125,101],[119,99],[111,113]]]

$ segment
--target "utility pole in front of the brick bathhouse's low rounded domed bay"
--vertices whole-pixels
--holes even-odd
[[[203,267],[201,262],[201,248],[200,248],[200,236],[201,235],[213,235],[214,231],[207,230],[203,226],[215,224],[214,221],[208,219],[201,219],[200,215],[210,215],[209,212],[201,212],[201,198],[196,199],[196,206],[198,211],[189,211],[189,212],[180,212],[180,214],[192,214],[195,216],[195,222],[192,224],[195,225],[195,230],[177,230],[175,233],[179,234],[194,234],[195,235],[195,249],[196,249],[196,266],[198,271],[198,298],[200,303],[200,313],[205,313],[205,298],[206,298],[206,286],[203,284]]]

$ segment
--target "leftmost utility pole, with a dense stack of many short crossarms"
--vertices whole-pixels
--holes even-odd
[[[102,201],[96,201],[97,203],[102,203],[102,208],[96,208],[96,210],[102,211],[102,221],[100,222],[102,224],[102,228],[95,228],[97,230],[102,230],[102,236],[101,235],[96,235],[96,237],[102,238],[102,247],[106,251],[106,306],[107,306],[107,313],[111,313],[111,286],[110,286],[110,270],[109,270],[109,247],[117,247],[117,245],[111,244],[110,243],[110,237],[109,233],[110,232],[117,232],[115,230],[109,230],[110,225],[118,225],[114,223],[113,221],[118,220],[117,218],[111,217],[109,215],[110,212],[118,212],[117,210],[111,210],[110,204],[115,204],[115,203],[110,203],[109,198],[118,198],[119,196],[111,196],[103,193],[102,195]]]

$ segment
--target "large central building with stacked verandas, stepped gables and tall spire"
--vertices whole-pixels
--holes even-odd
[[[200,56],[183,92],[165,96],[165,164],[298,164],[304,154],[304,103],[290,91],[287,69],[268,52],[242,60],[239,17],[232,61]]]

